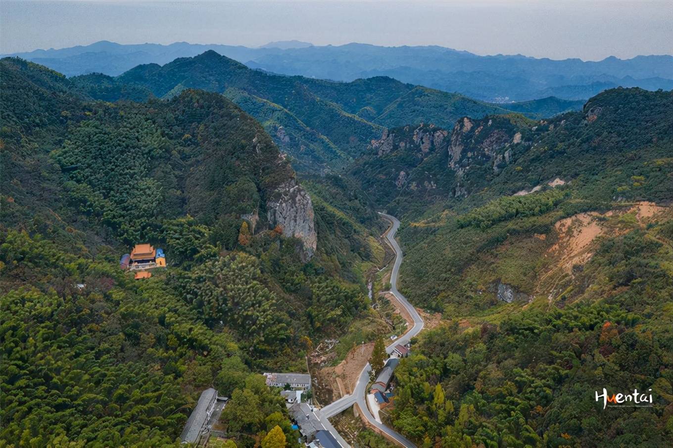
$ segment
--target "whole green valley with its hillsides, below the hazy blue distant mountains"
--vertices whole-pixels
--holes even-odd
[[[0,61],[0,446],[180,446],[210,388],[208,446],[314,443],[268,372],[310,373],[344,448],[673,437],[673,91],[160,62]],[[135,279],[140,244],[165,266]],[[652,406],[594,402],[624,385]]]

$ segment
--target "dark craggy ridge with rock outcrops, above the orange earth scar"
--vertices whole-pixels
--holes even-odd
[[[570,181],[596,200],[666,200],[672,101],[671,92],[612,89],[581,112],[554,118],[465,116],[450,131],[433,124],[392,128],[349,170],[365,190],[374,188],[380,207],[413,216],[433,204],[464,211]],[[632,176],[651,180],[633,185]]]

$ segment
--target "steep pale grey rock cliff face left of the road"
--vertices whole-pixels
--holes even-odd
[[[267,200],[269,224],[282,227],[285,237],[302,240],[305,261],[315,254],[318,245],[314,218],[311,198],[294,178],[280,184]]]

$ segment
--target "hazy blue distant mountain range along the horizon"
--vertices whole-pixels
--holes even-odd
[[[527,101],[548,96],[586,100],[612,87],[673,89],[673,57],[608,57],[602,61],[536,59],[517,55],[479,56],[441,46],[312,46],[271,42],[259,48],[221,44],[122,45],[101,41],[88,46],[15,53],[68,76],[100,72],[120,75],[141,64],[164,65],[207,50],[254,69],[335,81],[388,76],[487,102]]]

